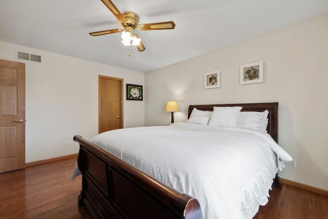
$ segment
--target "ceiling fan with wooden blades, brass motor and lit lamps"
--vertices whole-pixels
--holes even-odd
[[[150,23],[150,24],[139,24],[139,16],[131,11],[119,12],[116,6],[112,3],[111,0],[101,0],[106,7],[117,17],[118,21],[124,27],[124,29],[111,29],[111,30],[102,30],[97,32],[89,33],[92,36],[100,36],[111,33],[122,32],[121,38],[122,43],[126,46],[134,45],[138,48],[139,52],[145,51],[146,48],[142,44],[138,34],[134,33],[135,29],[139,30],[169,30],[174,29],[174,22],[160,22],[160,23]]]

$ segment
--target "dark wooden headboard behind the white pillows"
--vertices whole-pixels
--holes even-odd
[[[256,104],[211,104],[211,105],[190,105],[188,109],[188,118],[194,108],[205,111],[213,111],[213,107],[242,107],[241,111],[257,111],[263,112],[268,110],[269,123],[267,127],[268,133],[278,142],[278,102],[275,103],[256,103]]]

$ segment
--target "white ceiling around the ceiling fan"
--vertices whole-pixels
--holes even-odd
[[[100,0],[1,0],[0,41],[147,72],[328,13],[327,0],[112,0],[140,24],[174,21],[174,30],[139,31],[146,51],[120,43],[121,28]],[[297,36],[295,36],[297,37]]]

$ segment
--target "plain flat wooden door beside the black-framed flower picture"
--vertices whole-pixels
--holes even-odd
[[[99,75],[99,133],[123,128],[123,79]]]

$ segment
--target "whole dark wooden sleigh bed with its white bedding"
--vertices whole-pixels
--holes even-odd
[[[238,107],[266,112],[268,134],[209,126],[217,111]],[[91,141],[74,136],[82,173],[78,205],[94,218],[252,218],[268,202],[271,185],[281,187],[278,169],[292,159],[275,143],[278,103],[190,105],[188,118],[171,126],[113,130]],[[263,155],[252,159],[247,151]]]

